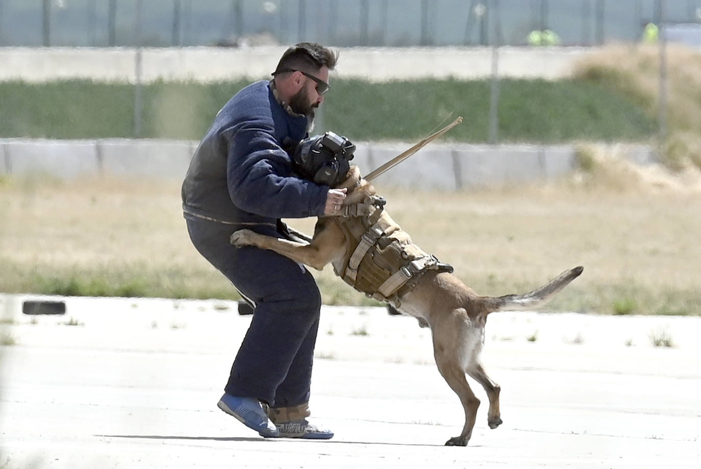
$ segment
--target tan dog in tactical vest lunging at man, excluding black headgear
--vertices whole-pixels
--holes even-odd
[[[264,236],[250,230],[233,233],[231,243],[273,250],[319,270],[331,263],[336,275],[356,290],[392,302],[401,313],[414,316],[421,325],[428,325],[438,370],[458,395],[465,415],[461,434],[451,437],[446,445],[465,446],[472,436],[479,407],[479,399],[465,379],[466,374],[484,388],[489,398],[489,428],[497,428],[502,423],[501,388],[487,376],[479,360],[488,315],[496,311],[538,308],[580,276],[583,267],[564,271],[526,294],[480,296],[452,275],[451,267],[441,264],[411,242],[408,233],[384,210],[383,199],[360,177],[355,165],[350,166],[345,176],[335,184],[348,189],[343,214],[319,217],[310,243]],[[348,210],[351,205],[357,210]]]

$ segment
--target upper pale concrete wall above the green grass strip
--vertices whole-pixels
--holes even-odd
[[[485,47],[339,48],[332,77],[386,81],[427,77],[480,79],[491,74]],[[500,48],[498,73],[517,78],[560,79],[597,48]],[[144,48],[141,79],[223,81],[270,76],[285,47]],[[95,79],[135,83],[133,48],[0,48],[0,81]]]

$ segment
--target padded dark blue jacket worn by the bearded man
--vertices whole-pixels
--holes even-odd
[[[295,174],[283,143],[306,137],[306,116],[291,116],[271,84],[240,90],[219,111],[182,184],[184,216],[223,224],[277,226],[280,218],[323,215],[327,186]]]

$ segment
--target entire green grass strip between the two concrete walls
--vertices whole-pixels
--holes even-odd
[[[217,111],[249,81],[164,82],[143,87],[141,137],[199,140]],[[136,137],[135,88],[68,80],[0,83],[0,137],[55,139]],[[624,93],[583,79],[504,79],[499,127],[503,142],[646,140],[655,120]],[[489,81],[421,80],[369,83],[336,79],[317,130],[351,140],[416,140],[443,121],[465,118],[446,136],[457,142],[489,137]]]

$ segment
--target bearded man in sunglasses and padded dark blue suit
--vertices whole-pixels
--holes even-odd
[[[301,264],[229,237],[247,228],[285,238],[281,218],[338,212],[345,189],[301,179],[285,151],[308,136],[336,59],[316,43],[288,48],[271,81],[246,86],[219,111],[182,184],[193,245],[255,304],[218,406],[264,437],[334,435],[307,420],[321,298]]]

